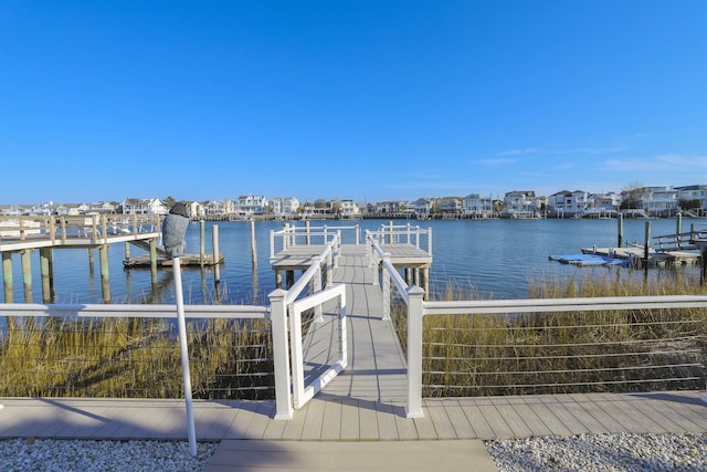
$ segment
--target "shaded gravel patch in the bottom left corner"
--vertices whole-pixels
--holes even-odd
[[[0,441],[0,471],[203,471],[218,443],[10,439]]]

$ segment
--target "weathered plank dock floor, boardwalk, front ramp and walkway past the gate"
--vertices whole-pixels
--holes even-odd
[[[497,470],[481,440],[581,433],[707,432],[705,392],[423,399],[405,418],[407,365],[363,247],[345,247],[348,367],[275,420],[274,401],[197,400],[199,441],[220,441],[208,471]],[[0,398],[0,438],[187,440],[182,400]],[[392,462],[391,462],[392,461]],[[407,468],[407,469],[403,469]]]

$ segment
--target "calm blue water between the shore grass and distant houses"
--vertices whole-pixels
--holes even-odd
[[[624,220],[624,241],[643,242],[646,220]],[[676,221],[650,220],[651,234],[676,231]],[[631,273],[627,268],[576,268],[548,259],[549,255],[577,254],[581,248],[614,247],[618,239],[616,220],[433,220],[395,221],[395,224],[432,228],[433,264],[431,289],[442,290],[447,282],[473,287],[479,294],[496,298],[527,296],[528,282],[544,277],[570,277],[591,273],[597,276],[614,272]],[[362,229],[378,229],[382,220],[355,222],[326,222],[330,228],[359,224]],[[704,227],[705,220],[683,220],[683,231],[692,223]],[[205,225],[205,251],[211,253],[211,225],[219,225],[220,251],[225,256],[221,268],[222,302],[231,304],[267,303],[266,295],[275,287],[275,275],[270,268],[270,231],[279,230],[282,222],[255,224],[257,269],[251,259],[249,222],[218,222]],[[304,225],[304,223],[297,223]],[[325,224],[313,221],[313,227]],[[191,223],[187,233],[188,252],[200,249],[199,223]],[[349,242],[345,241],[344,242]],[[130,248],[131,255],[144,253]],[[113,303],[170,303],[173,301],[170,270],[158,271],[158,284],[150,283],[149,269],[124,270],[124,244],[112,244],[109,250],[110,293]],[[39,273],[39,251],[32,254],[33,296],[42,301]],[[697,268],[680,271],[699,276]],[[636,272],[636,271],[633,271]],[[652,270],[652,274],[657,274]],[[652,275],[656,276],[656,275]],[[215,298],[213,270],[182,269],[187,303],[211,303]],[[24,301],[22,270],[18,254],[13,255],[14,301]],[[87,250],[54,251],[54,291],[56,303],[102,303],[98,252],[94,268],[89,268]],[[4,302],[4,295],[0,293]],[[265,301],[264,301],[265,300]]]

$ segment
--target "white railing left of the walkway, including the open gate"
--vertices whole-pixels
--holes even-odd
[[[183,305],[183,316],[188,319],[228,318],[228,319],[271,319],[273,340],[273,365],[275,377],[276,419],[289,419],[293,415],[293,401],[300,408],[336,374],[346,367],[346,291],[344,285],[333,286],[331,271],[338,260],[340,249],[338,234],[289,291],[275,290],[268,295],[270,306],[256,305]],[[326,281],[326,283],[323,283]],[[309,294],[302,296],[309,287]],[[313,310],[315,323],[323,322],[323,307],[331,305],[338,308],[335,322],[340,342],[338,358],[318,378],[304,384],[302,313]],[[177,318],[178,307],[171,304],[33,304],[1,303],[0,316],[8,317],[64,317],[64,318]],[[331,318],[329,316],[329,318]],[[186,346],[181,346],[183,350]],[[294,371],[291,373],[293,359]],[[292,375],[291,375],[292,374]],[[292,379],[292,380],[291,380]],[[184,387],[191,385],[184,378]],[[295,388],[294,392],[292,388]]]

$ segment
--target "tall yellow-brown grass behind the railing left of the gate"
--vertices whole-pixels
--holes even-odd
[[[187,325],[194,398],[272,398],[265,321]],[[0,338],[0,396],[182,398],[173,324],[156,318],[15,318]]]

